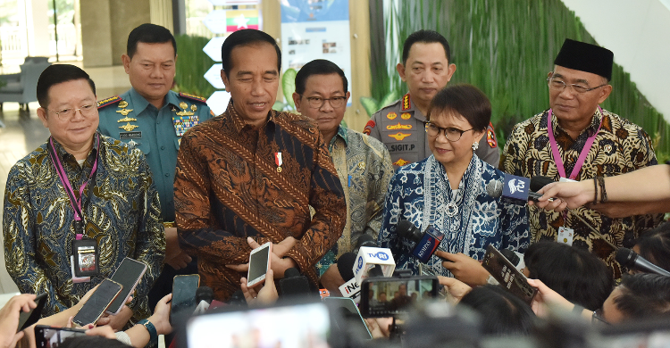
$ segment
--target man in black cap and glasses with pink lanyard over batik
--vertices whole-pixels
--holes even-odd
[[[550,109],[515,126],[500,159],[500,169],[517,176],[547,176],[556,181],[593,181],[596,206],[570,213],[529,207],[532,240],[555,240],[596,253],[615,278],[624,272],[607,243],[632,247],[641,231],[656,227],[660,214],[620,218],[607,211],[602,177],[657,164],[649,135],[640,127],[600,107],[612,92],[614,54],[607,48],[565,39],[554,70],[547,77]],[[596,211],[589,208],[603,209]],[[633,212],[631,212],[632,214]],[[602,240],[590,227],[607,238]]]

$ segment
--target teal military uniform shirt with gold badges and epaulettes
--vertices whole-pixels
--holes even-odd
[[[190,128],[190,124],[214,117],[205,99],[169,91],[163,107],[156,109],[135,88],[130,88],[99,104],[102,106],[98,109],[98,129],[105,136],[135,145],[147,156],[161,199],[163,221],[174,221],[174,169],[177,167],[180,134]],[[178,112],[192,113],[193,120],[176,121],[180,120]]]

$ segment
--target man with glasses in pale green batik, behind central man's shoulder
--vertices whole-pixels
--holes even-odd
[[[296,75],[296,109],[319,125],[347,199],[347,224],[338,243],[316,263],[321,285],[339,294],[342,279],[333,264],[351,252],[363,234],[375,239],[381,228],[384,197],[393,175],[386,146],[373,137],[341,125],[349,98],[344,71],[330,61],[306,63]]]

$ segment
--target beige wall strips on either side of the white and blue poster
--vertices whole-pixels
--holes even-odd
[[[264,0],[261,4],[263,31],[275,39],[281,38],[281,6],[279,0]],[[352,105],[344,120],[349,128],[363,131],[367,116],[361,96],[370,95],[370,10],[369,0],[349,0],[349,31],[351,34],[351,95]],[[281,42],[278,41],[281,46]],[[280,86],[281,88],[281,86]],[[281,90],[278,95],[281,95]]]

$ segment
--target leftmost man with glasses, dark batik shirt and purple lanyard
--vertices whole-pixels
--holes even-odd
[[[131,318],[146,319],[165,236],[145,156],[96,131],[96,86],[84,70],[51,65],[38,79],[37,95],[38,117],[51,137],[7,178],[7,271],[21,293],[48,294],[42,315],[49,316],[80,302],[125,257],[142,261],[147,271],[132,302],[97,324],[119,330]]]

